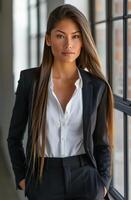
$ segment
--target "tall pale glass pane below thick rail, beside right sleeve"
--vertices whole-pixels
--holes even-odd
[[[124,144],[123,144],[123,113],[115,110],[113,184],[115,189],[124,196]]]

